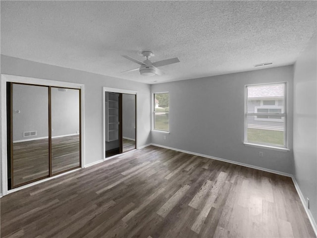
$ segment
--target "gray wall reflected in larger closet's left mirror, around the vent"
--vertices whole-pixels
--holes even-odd
[[[12,122],[13,141],[48,137],[49,88],[13,84]],[[26,131],[37,131],[37,135],[23,137]]]

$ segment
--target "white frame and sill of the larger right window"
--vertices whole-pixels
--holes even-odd
[[[248,87],[256,86],[273,86],[273,85],[278,85],[278,84],[284,84],[284,112],[282,113],[248,113]],[[288,85],[287,82],[276,82],[276,83],[264,83],[264,84],[249,84],[245,85],[245,107],[244,107],[244,144],[245,145],[250,145],[250,146],[255,146],[255,147],[265,147],[268,149],[276,149],[276,150],[284,150],[284,151],[289,151],[288,149],[288,126],[287,126],[287,100],[288,100]],[[262,105],[262,104],[261,104]],[[276,102],[275,102],[276,105]],[[266,105],[265,105],[266,106]],[[267,105],[268,106],[268,105]],[[273,106],[273,105],[272,105]],[[274,108],[274,107],[270,107]],[[260,143],[260,142],[248,142],[247,138],[247,129],[248,129],[248,116],[277,116],[277,117],[282,117],[284,119],[284,145],[280,146],[277,144],[268,144],[268,143]]]

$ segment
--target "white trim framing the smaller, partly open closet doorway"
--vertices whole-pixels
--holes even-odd
[[[133,91],[133,90],[127,90],[127,89],[121,89],[121,88],[108,88],[108,87],[103,87],[103,160],[106,161],[111,157],[106,158],[106,98],[105,98],[105,92],[111,92],[111,93],[124,93],[124,94],[133,94],[136,95],[136,138],[139,138],[139,126],[138,126],[138,122],[139,122],[139,118],[138,118],[138,91]],[[136,143],[136,148],[138,149],[138,139],[137,139],[137,143]],[[123,153],[122,153],[123,154]],[[118,154],[118,155],[122,155],[122,154]]]

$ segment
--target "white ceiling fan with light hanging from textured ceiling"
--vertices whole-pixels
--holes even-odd
[[[160,61],[153,63],[151,60],[149,60],[152,56],[154,56],[154,54],[152,52],[144,51],[144,52],[142,52],[142,55],[146,58],[146,60],[144,60],[143,62],[136,60],[136,59],[133,59],[132,57],[129,57],[129,56],[122,56],[125,59],[131,60],[131,61],[141,65],[140,68],[134,68],[134,69],[126,70],[123,72],[130,72],[130,71],[135,71],[135,70],[139,69],[140,74],[143,76],[154,76],[156,74],[161,75],[161,72],[158,69],[158,67],[180,62],[178,60],[178,58],[172,58],[172,59],[168,59],[168,60],[160,60]],[[121,73],[123,73],[123,72],[121,72]]]

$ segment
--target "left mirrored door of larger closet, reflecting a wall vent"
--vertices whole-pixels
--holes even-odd
[[[12,83],[12,188],[49,176],[49,88]]]

